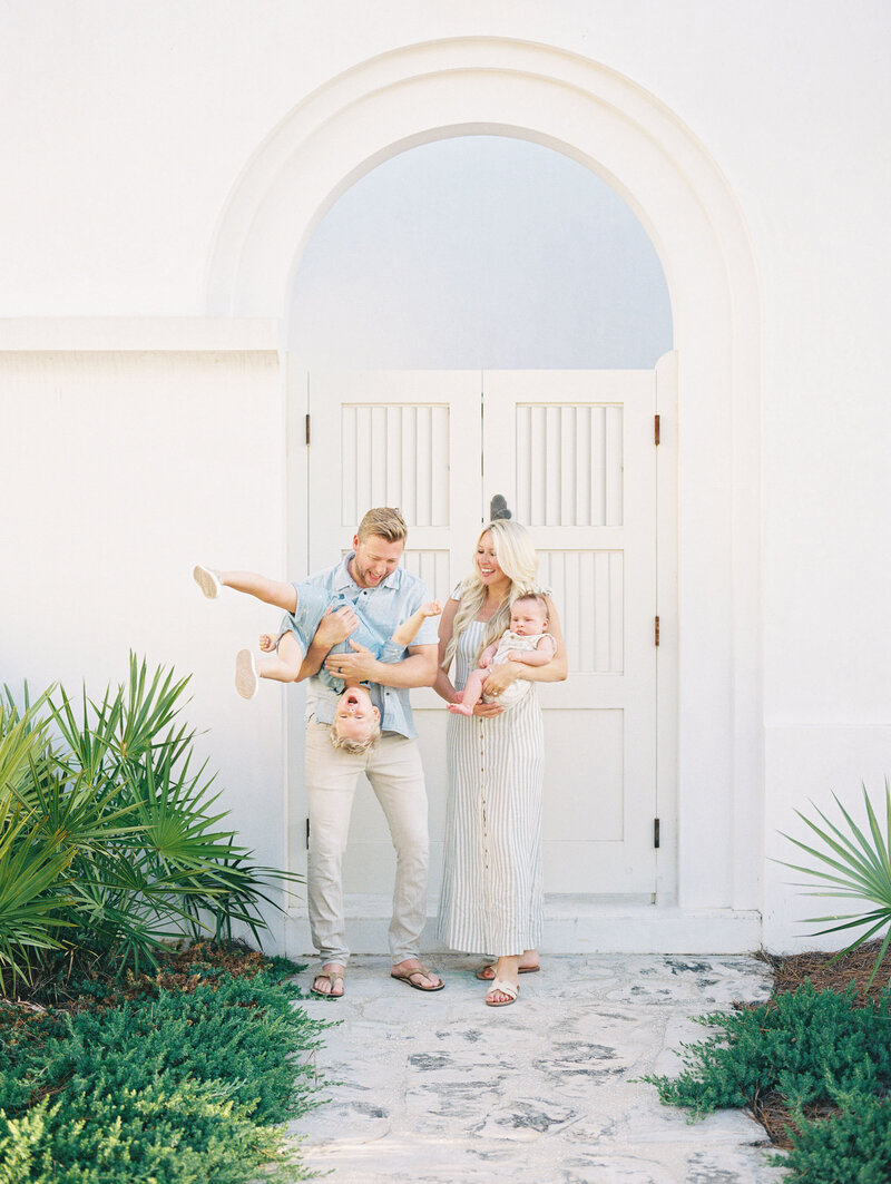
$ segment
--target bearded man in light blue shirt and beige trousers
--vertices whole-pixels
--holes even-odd
[[[419,991],[440,991],[445,984],[421,965],[418,945],[426,919],[427,794],[412,722],[408,691],[430,687],[437,676],[437,626],[427,618],[401,662],[377,661],[353,643],[350,654],[328,651],[363,620],[389,637],[402,620],[430,599],[426,585],[399,566],[407,527],[398,509],[369,510],[353,539],[354,551],[340,564],[309,578],[331,596],[334,611],[322,620],[301,667],[306,688],[306,794],[309,798],[309,868],[306,895],[312,941],[322,955],[314,995],[343,995],[349,958],[343,918],[342,860],[347,845],[353,796],[360,773],[372,783],[383,809],[396,850],[396,882],[389,926],[390,974]],[[317,677],[322,663],[337,677],[370,683],[372,702],[381,715],[381,735],[366,752],[335,749],[330,728],[338,696]]]

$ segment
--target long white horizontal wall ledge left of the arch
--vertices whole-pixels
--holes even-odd
[[[282,321],[262,316],[1,317],[0,352],[244,353],[277,350]]]

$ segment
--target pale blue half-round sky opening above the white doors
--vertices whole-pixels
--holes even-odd
[[[583,166],[463,136],[411,149],[331,207],[301,260],[308,368],[648,368],[672,346],[643,225]]]

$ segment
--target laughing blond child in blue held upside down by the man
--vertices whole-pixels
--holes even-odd
[[[318,629],[322,617],[331,605],[329,593],[312,584],[285,584],[271,580],[257,572],[218,572],[198,564],[193,571],[195,583],[208,599],[214,600],[224,587],[256,597],[265,604],[276,605],[285,612],[278,636],[260,636],[260,649],[265,654],[276,651],[275,657],[254,659],[250,650],[239,650],[235,657],[235,689],[243,699],[253,699],[259,690],[260,678],[276,682],[293,682],[301,664]],[[379,662],[400,662],[406,649],[418,636],[426,617],[435,617],[443,610],[435,600],[422,604],[393,631],[390,637],[381,637],[375,626],[363,617],[359,605],[346,604],[338,610],[348,622],[355,620],[347,642],[338,642],[330,652],[349,652],[349,642],[370,650]],[[380,712],[372,703],[368,689],[361,683],[347,682],[330,674],[324,665],[318,677],[332,690],[343,694],[337,703],[329,735],[335,748],[350,753],[367,752],[380,735]]]

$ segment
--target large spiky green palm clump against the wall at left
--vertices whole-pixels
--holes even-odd
[[[299,877],[253,864],[220,826],[194,731],[177,722],[188,680],[130,655],[125,687],[76,703],[59,689],[20,715],[0,704],[0,991],[104,961],[156,965],[187,933],[232,939],[280,907]]]

